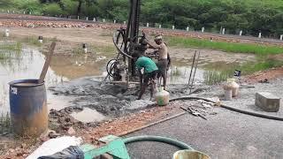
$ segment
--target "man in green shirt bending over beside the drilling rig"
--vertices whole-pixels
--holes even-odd
[[[134,53],[132,55],[134,57],[135,67],[137,68],[140,75],[140,94],[138,96],[138,100],[142,99],[142,95],[145,92],[146,87],[148,87],[149,81],[151,83],[150,86],[150,100],[153,96],[154,89],[156,87],[155,80],[157,79],[157,64],[152,61],[149,57],[144,57],[142,54]],[[142,74],[143,68],[143,74]]]

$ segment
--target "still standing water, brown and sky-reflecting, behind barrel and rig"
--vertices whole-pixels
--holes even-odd
[[[9,85],[15,79],[38,79],[45,62],[41,48],[31,48],[25,45],[19,50],[1,49],[0,45],[0,115],[9,109]],[[109,55],[55,55],[52,57],[50,68],[46,75],[46,87],[54,86],[71,79],[85,76],[105,75],[105,64]],[[115,57],[115,56],[113,56]],[[169,84],[187,84],[190,74],[190,62],[180,63],[173,59],[168,71]],[[203,70],[198,69],[195,81],[203,81]],[[69,106],[71,97],[52,95],[48,93],[48,106],[60,110]]]

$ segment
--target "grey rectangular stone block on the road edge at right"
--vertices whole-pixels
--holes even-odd
[[[277,112],[280,106],[280,98],[269,92],[256,93],[256,106],[269,112]]]

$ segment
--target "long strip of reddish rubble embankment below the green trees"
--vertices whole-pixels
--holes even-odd
[[[121,24],[111,24],[111,23],[99,23],[86,20],[75,20],[75,19],[57,19],[57,18],[46,18],[46,17],[36,17],[24,15],[12,15],[12,14],[0,14],[0,27],[96,27],[103,29],[116,30],[119,27],[126,27],[126,25]],[[53,19],[53,20],[52,20]],[[200,32],[186,32],[182,30],[171,30],[171,29],[159,29],[154,27],[142,27],[147,34],[163,34],[165,36],[180,36],[189,37],[197,39],[206,39],[216,42],[242,42],[242,43],[259,43],[265,45],[278,45],[283,46],[283,42],[279,40],[272,39],[257,39],[255,37],[248,36],[237,36],[237,35],[221,35],[221,34],[210,34],[210,33],[200,33]]]

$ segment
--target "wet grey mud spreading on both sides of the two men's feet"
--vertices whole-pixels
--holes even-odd
[[[88,108],[96,110],[105,118],[126,116],[131,112],[143,110],[155,103],[149,101],[149,89],[143,95],[142,100],[136,100],[138,86],[127,89],[123,85],[102,85],[102,79],[94,77],[75,79],[49,89],[56,95],[73,97],[71,102],[73,105],[64,110],[68,109],[71,110],[70,113],[73,113]],[[171,97],[189,94],[189,90],[185,85],[170,85],[169,90]]]

